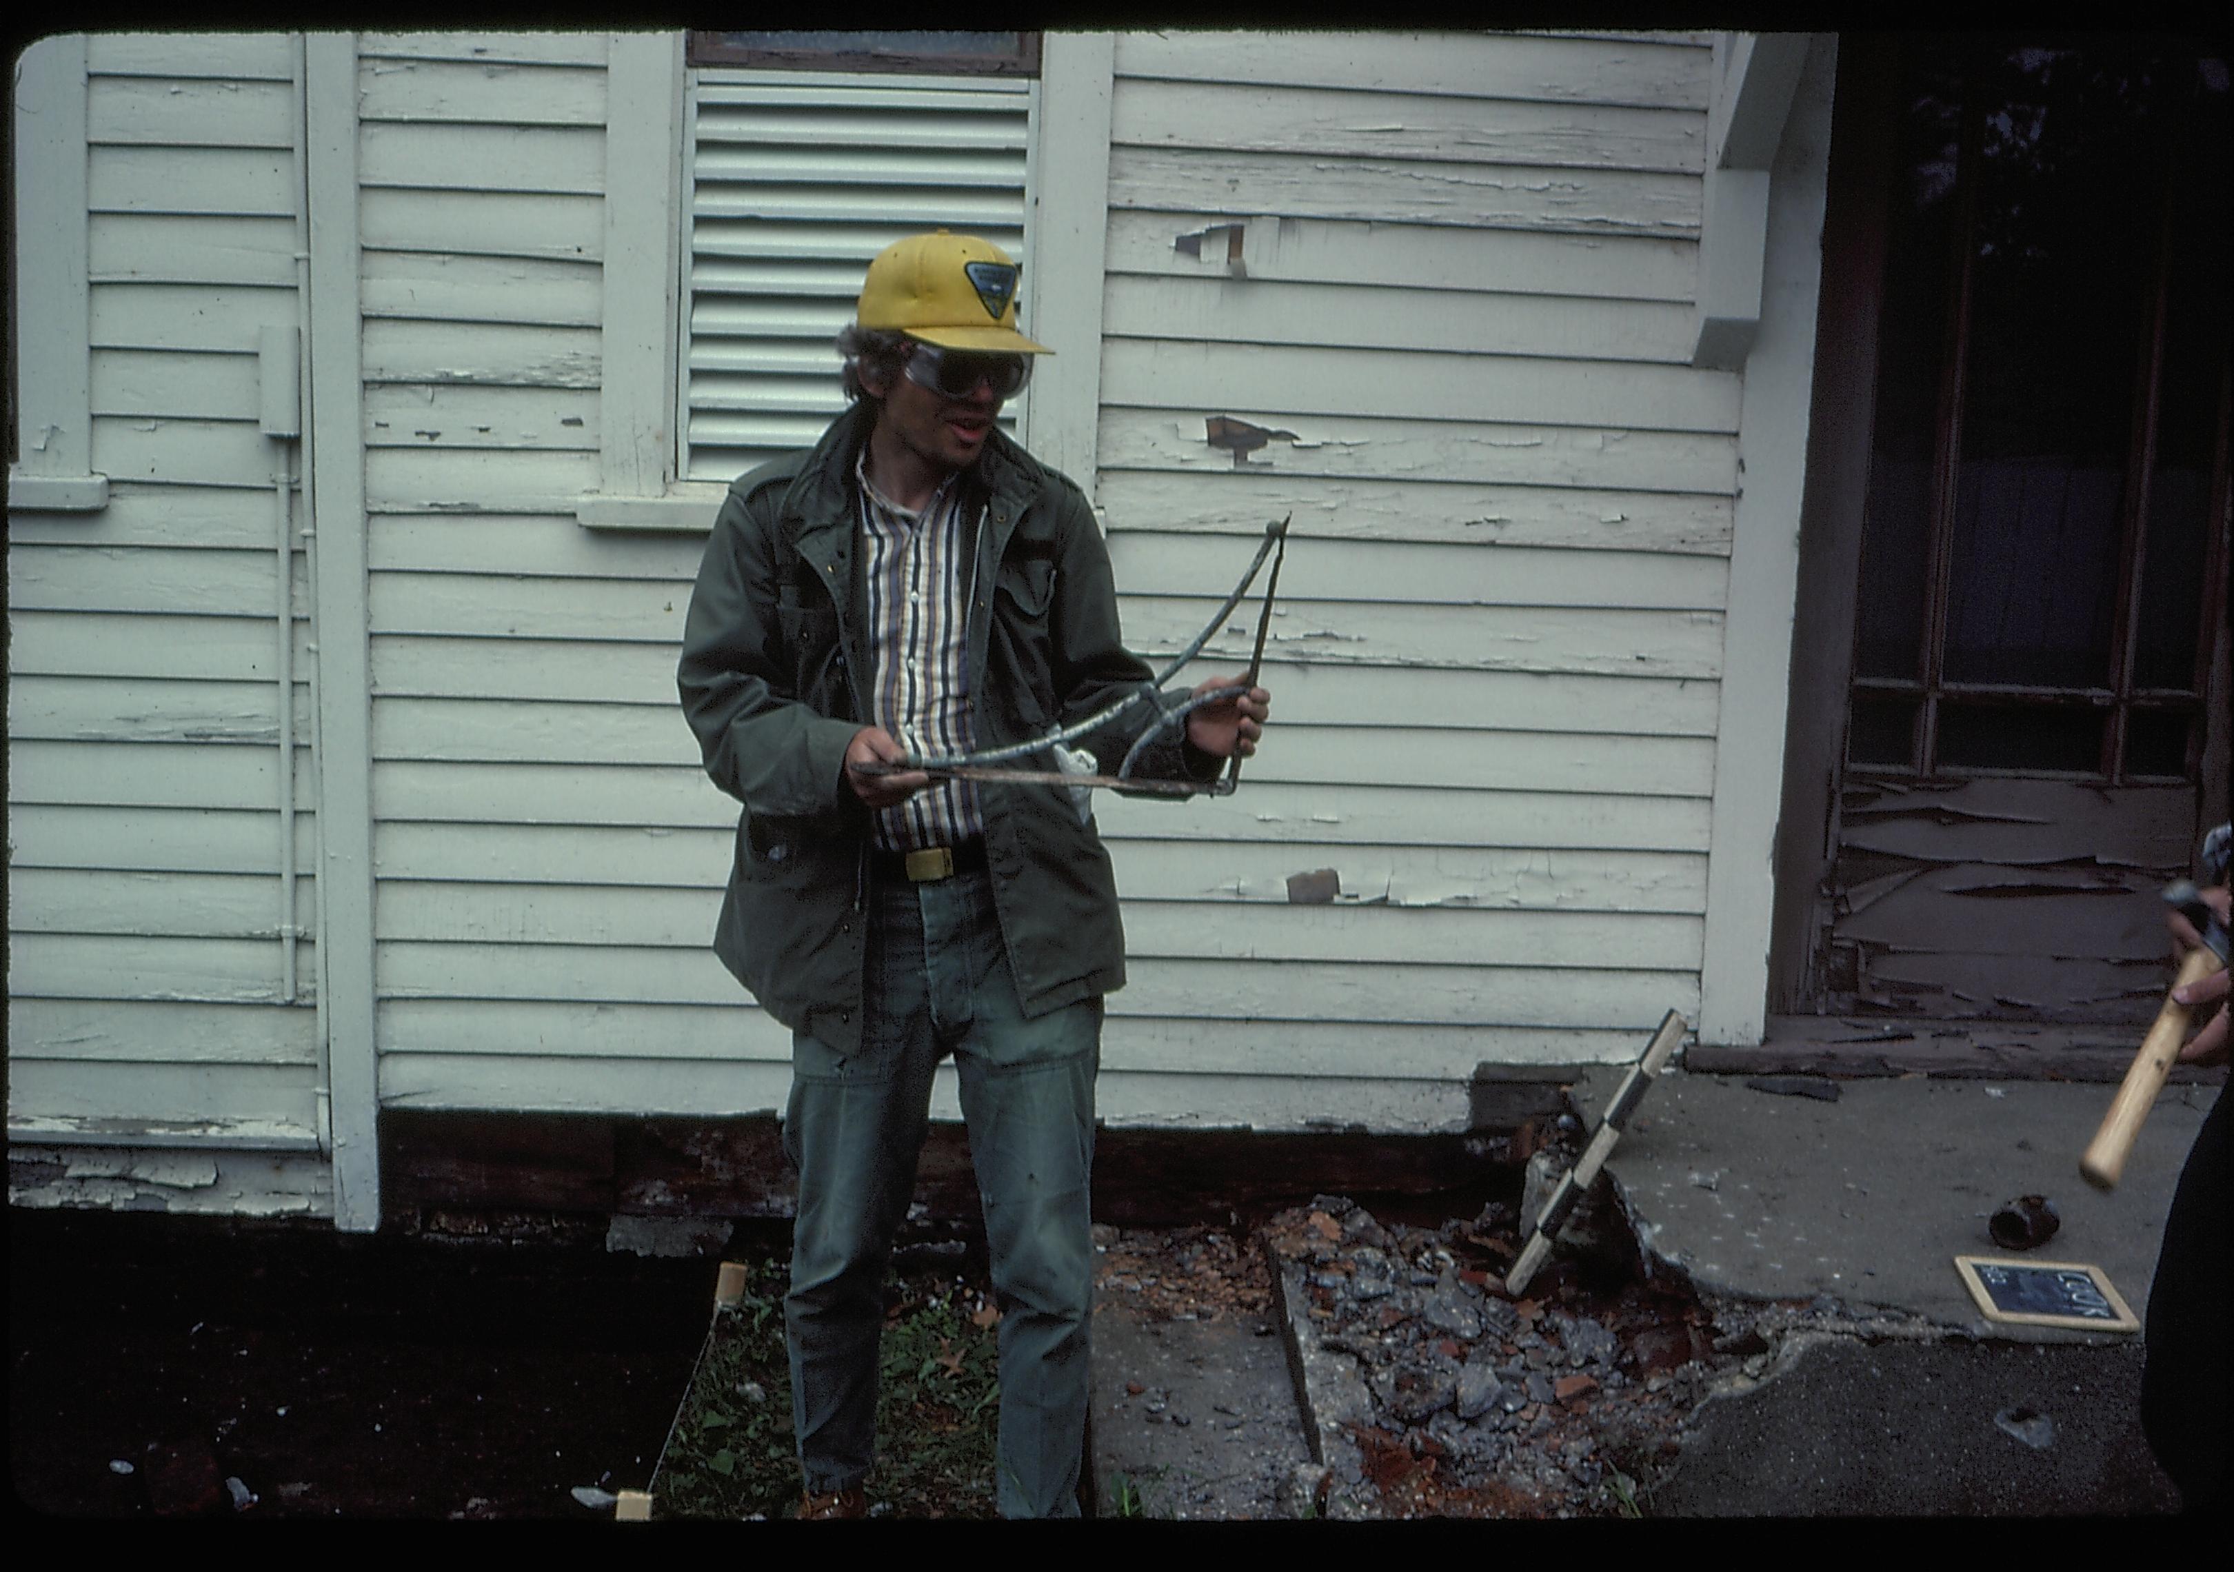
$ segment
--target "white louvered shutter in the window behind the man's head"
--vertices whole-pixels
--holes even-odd
[[[833,339],[885,246],[945,228],[1030,268],[1032,100],[1032,83],[1001,78],[701,74],[686,478],[733,480],[822,435],[844,409]],[[1021,404],[1003,411],[1010,435]]]

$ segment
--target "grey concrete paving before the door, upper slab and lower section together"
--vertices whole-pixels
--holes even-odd
[[[1620,1081],[1573,1087],[1586,1123]],[[1957,1255],[2017,1195],[2062,1228],[2037,1259],[2100,1266],[2133,1313],[2216,1087],[2167,1087],[2120,1186],[2078,1157],[2113,1087],[1881,1079],[1836,1101],[1669,1074],[1606,1163],[1658,1264],[1763,1349],[1705,1402],[1649,1509],[1669,1516],[2169,1512],[2136,1400],[2140,1338],[1988,1322]],[[2020,1344],[2035,1344],[2024,1349]],[[2064,1344],[2064,1346],[2049,1346]],[[2042,1422],[2044,1420],[2044,1422]]]

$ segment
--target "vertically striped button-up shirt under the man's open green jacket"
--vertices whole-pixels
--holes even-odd
[[[867,456],[865,456],[867,458]],[[972,538],[961,485],[949,476],[920,514],[869,485],[860,496],[862,576],[869,587],[869,706],[873,721],[911,755],[970,753]],[[954,846],[985,833],[976,786],[934,782],[876,813],[885,851]]]

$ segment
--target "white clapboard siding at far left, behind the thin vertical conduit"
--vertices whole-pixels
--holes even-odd
[[[313,607],[299,538],[284,625],[275,607],[273,482],[295,456],[257,424],[257,335],[299,322],[295,123],[284,33],[87,40],[89,404],[112,487],[98,514],[9,518],[22,1139],[315,1159]],[[293,1005],[281,924],[299,933]]]

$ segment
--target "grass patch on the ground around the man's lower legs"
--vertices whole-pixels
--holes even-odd
[[[659,1472],[652,1516],[791,1516],[800,1465],[784,1358],[786,1262],[753,1262],[744,1297],[715,1313]],[[869,1501],[891,1516],[994,1516],[1001,1418],[999,1315],[954,1275],[887,1286]]]

